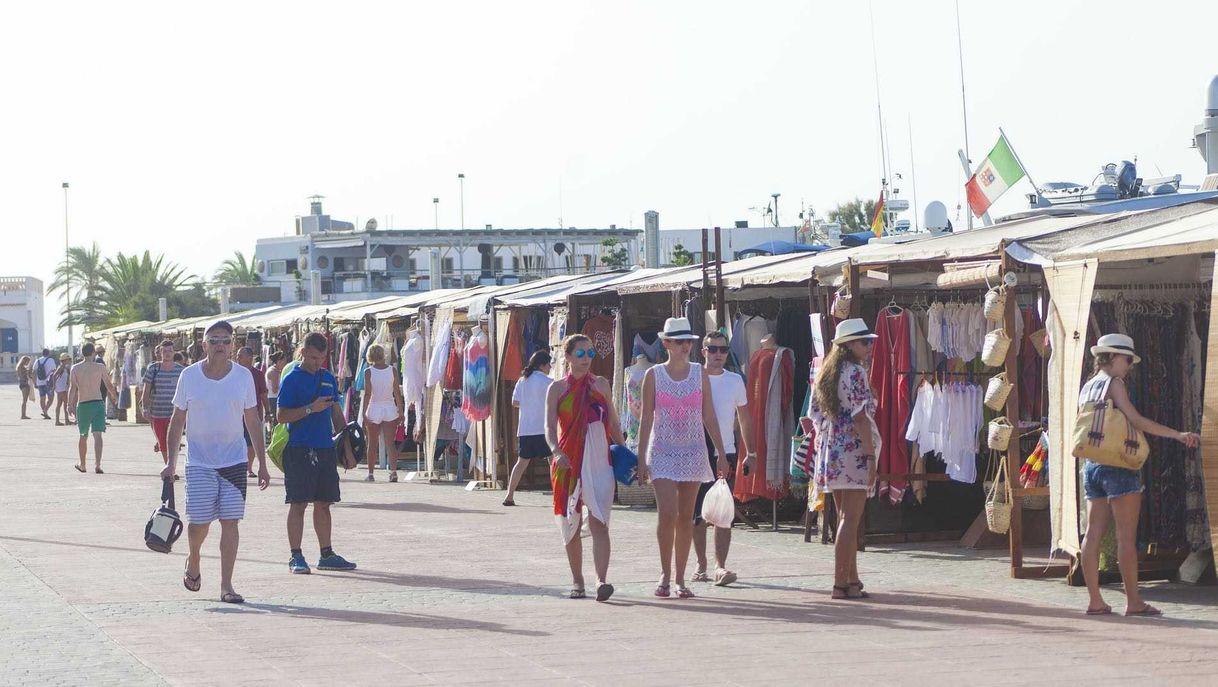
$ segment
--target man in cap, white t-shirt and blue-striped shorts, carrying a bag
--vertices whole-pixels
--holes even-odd
[[[258,415],[258,398],[250,372],[229,359],[233,325],[213,323],[203,333],[207,357],[181,370],[169,419],[169,460],[161,476],[172,480],[178,468],[178,446],[186,430],[186,534],[190,554],[181,583],[191,592],[202,586],[200,551],[213,520],[220,521],[220,601],[245,603],[233,591],[238,523],[245,516],[246,458],[242,425],[258,457],[258,488],[270,485],[267,449]]]

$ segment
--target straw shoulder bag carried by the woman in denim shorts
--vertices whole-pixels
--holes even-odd
[[[1074,420],[1075,458],[1101,465],[1140,470],[1150,457],[1150,445],[1112,401],[1107,398],[1108,384],[1089,381],[1083,404]]]

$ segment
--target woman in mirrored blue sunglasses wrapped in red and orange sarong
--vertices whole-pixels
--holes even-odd
[[[554,487],[554,518],[566,543],[571,565],[572,599],[587,596],[583,587],[583,543],[580,525],[588,508],[592,559],[597,569],[597,601],[608,601],[614,588],[609,575],[609,512],[613,507],[614,471],[609,439],[625,446],[609,381],[591,374],[597,352],[582,334],[563,344],[568,375],[546,393],[546,439],[553,448],[549,476]],[[643,467],[639,465],[639,471]]]

